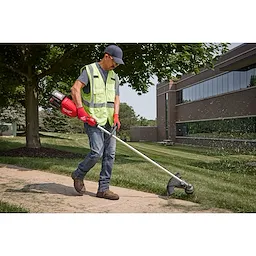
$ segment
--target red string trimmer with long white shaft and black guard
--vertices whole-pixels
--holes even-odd
[[[52,96],[50,98],[50,104],[53,107],[55,107],[57,109],[60,109],[61,112],[63,114],[65,114],[66,116],[75,117],[77,115],[77,110],[76,110],[76,106],[75,106],[74,102],[71,99],[69,99],[67,96],[65,96],[64,94],[62,94],[61,92],[59,92],[57,90],[53,91]],[[121,142],[123,145],[125,145],[126,147],[131,149],[133,152],[137,153],[138,155],[143,157],[148,162],[150,162],[153,165],[157,166],[162,171],[164,171],[164,172],[168,173],[169,175],[171,175],[172,178],[169,180],[169,182],[167,184],[167,187],[166,187],[167,188],[167,195],[168,196],[170,196],[171,194],[174,193],[174,188],[182,188],[182,189],[185,190],[186,194],[193,194],[194,193],[193,185],[191,185],[191,184],[185,182],[184,180],[182,180],[179,173],[176,173],[176,175],[172,174],[167,169],[165,169],[164,167],[162,167],[161,165],[159,165],[158,163],[156,163],[155,161],[153,161],[152,159],[150,159],[146,155],[142,154],[137,149],[133,148],[128,143],[124,142],[123,140],[121,140],[120,138],[115,136],[113,133],[107,131],[106,129],[104,129],[103,127],[101,127],[98,124],[96,125],[96,127],[98,129],[100,129],[102,132],[104,132],[104,133],[106,133],[106,134],[108,134],[110,136],[113,136],[117,141]]]

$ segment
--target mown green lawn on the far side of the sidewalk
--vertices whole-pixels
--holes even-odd
[[[44,147],[86,154],[89,151],[84,134],[44,133]],[[180,172],[182,179],[194,185],[193,195],[176,189],[174,198],[200,203],[202,207],[217,207],[233,212],[256,212],[256,162],[255,151],[243,154],[234,149],[227,151],[194,146],[163,146],[157,143],[131,143],[172,173]],[[24,137],[0,138],[0,150],[25,145]],[[70,176],[82,158],[0,157],[1,163],[44,170]],[[97,164],[86,179],[97,181],[101,165]],[[116,161],[111,185],[166,195],[170,175],[147,162],[129,148],[117,142]]]

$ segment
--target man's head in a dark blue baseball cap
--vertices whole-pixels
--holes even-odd
[[[104,69],[112,70],[124,64],[123,62],[123,51],[117,45],[109,45],[104,50]]]

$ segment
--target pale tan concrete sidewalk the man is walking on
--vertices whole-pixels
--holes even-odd
[[[33,213],[184,213],[226,212],[202,209],[184,200],[111,186],[120,199],[96,197],[97,182],[85,180],[86,194],[79,196],[68,176],[0,164],[0,200]]]

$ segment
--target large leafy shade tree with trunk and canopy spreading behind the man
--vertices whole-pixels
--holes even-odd
[[[213,66],[221,44],[119,44],[124,62],[118,68],[121,83],[138,94],[146,93],[153,75],[158,81]],[[106,44],[13,44],[0,45],[0,104],[23,104],[26,109],[26,147],[39,148],[38,106],[47,106],[57,81],[73,84],[85,64],[99,60]],[[70,86],[59,86],[63,93]]]

